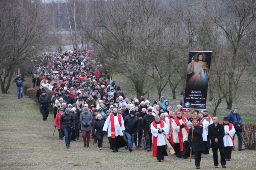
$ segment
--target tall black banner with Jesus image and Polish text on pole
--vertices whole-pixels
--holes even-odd
[[[212,51],[189,51],[184,108],[205,109]]]

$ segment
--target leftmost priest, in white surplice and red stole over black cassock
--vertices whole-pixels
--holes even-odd
[[[113,152],[118,152],[119,148],[127,146],[123,134],[125,130],[124,120],[123,117],[117,113],[117,107],[114,107],[112,111],[113,113],[108,116],[102,130],[105,132],[108,130],[110,147]]]

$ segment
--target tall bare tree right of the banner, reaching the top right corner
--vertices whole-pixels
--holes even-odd
[[[207,1],[208,2],[208,1]],[[211,2],[210,2],[211,3]],[[228,95],[225,96],[227,109],[232,108],[241,76],[247,66],[249,42],[255,38],[252,27],[255,23],[256,2],[254,0],[228,0],[212,1],[206,3],[205,9],[208,16],[223,31],[223,36],[230,45],[227,51],[227,59],[224,60],[226,75],[228,76]]]

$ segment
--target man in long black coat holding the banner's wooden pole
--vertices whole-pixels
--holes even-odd
[[[203,142],[203,127],[198,124],[198,120],[194,120],[194,126],[192,126],[188,131],[188,144],[190,149],[194,151],[195,157],[195,164],[196,169],[200,169],[200,162],[201,162],[201,154],[204,150],[204,142]],[[191,141],[193,130],[193,141]]]

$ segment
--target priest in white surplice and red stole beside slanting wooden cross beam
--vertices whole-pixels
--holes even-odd
[[[153,141],[153,152],[152,156],[156,157],[158,162],[164,160],[164,156],[168,156],[166,151],[166,141],[165,137],[168,135],[168,126],[167,124],[160,120],[159,116],[155,116],[155,121],[150,124],[150,130],[152,133]],[[165,135],[165,137],[164,137]]]

